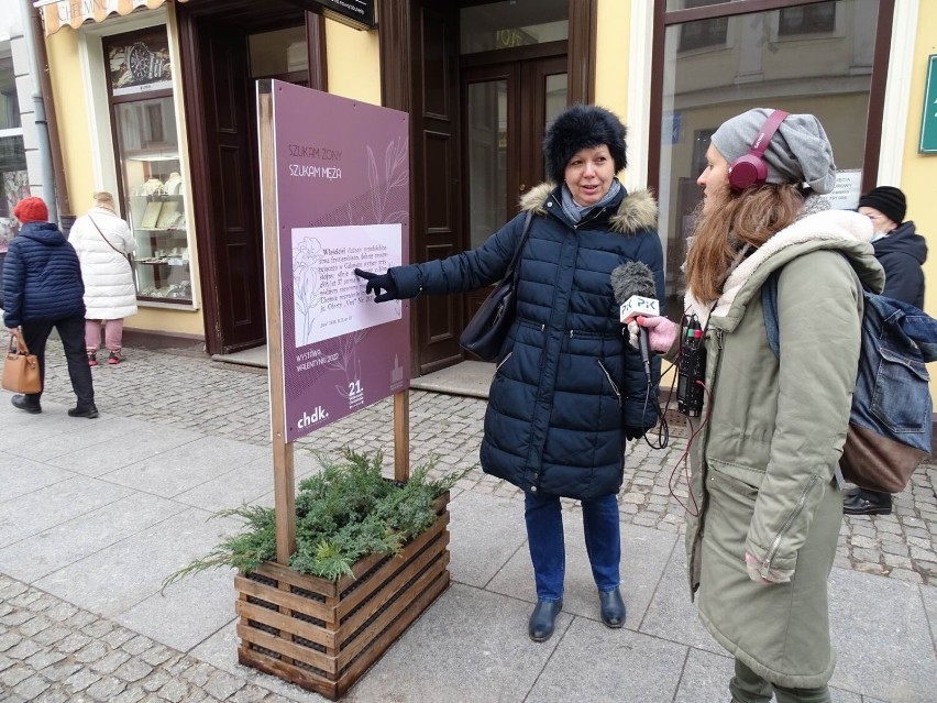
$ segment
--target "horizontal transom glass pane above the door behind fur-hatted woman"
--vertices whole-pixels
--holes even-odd
[[[509,0],[463,8],[461,52],[488,52],[570,36],[567,0]]]

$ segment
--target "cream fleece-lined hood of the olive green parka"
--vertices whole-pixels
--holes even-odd
[[[858,212],[823,210],[803,217],[774,234],[729,274],[712,314],[728,318],[724,327],[734,328],[748,300],[761,290],[771,272],[796,256],[820,249],[836,250],[847,256],[862,285],[878,293],[885,276],[875,260],[871,239],[872,223]],[[692,306],[705,325],[709,306],[699,304],[690,292],[686,293],[686,305]]]

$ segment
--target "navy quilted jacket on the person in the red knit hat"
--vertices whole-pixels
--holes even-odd
[[[3,322],[85,317],[81,266],[62,232],[52,222],[26,222],[10,242],[3,265]]]

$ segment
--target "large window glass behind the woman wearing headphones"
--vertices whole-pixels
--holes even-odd
[[[699,4],[713,3],[669,0],[668,9]],[[850,198],[859,197],[878,11],[875,0],[840,0],[666,28],[658,196],[669,311],[683,309],[680,266],[702,198],[696,178],[713,131],[730,117],[757,107],[816,114],[844,183],[856,184],[834,204],[855,207]],[[687,36],[713,37],[717,20],[726,29],[720,46],[685,51]]]

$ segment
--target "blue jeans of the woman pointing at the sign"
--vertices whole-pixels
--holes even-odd
[[[599,591],[618,587],[621,561],[621,529],[618,524],[618,496],[609,494],[583,501],[583,530],[592,575]],[[527,543],[533,562],[537,600],[554,602],[563,597],[566,550],[563,545],[563,515],[560,497],[526,493],[523,517]]]

